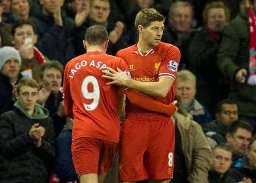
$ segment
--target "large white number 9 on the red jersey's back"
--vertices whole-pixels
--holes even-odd
[[[93,92],[88,91],[88,84],[91,83],[93,85]],[[84,78],[82,85],[81,85],[81,92],[85,99],[91,100],[93,99],[93,102],[90,104],[84,104],[85,110],[95,110],[99,105],[99,83],[97,79],[94,76],[87,76]]]

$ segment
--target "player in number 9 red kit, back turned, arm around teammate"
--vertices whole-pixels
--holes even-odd
[[[119,114],[123,103],[123,88],[106,85],[109,80],[102,78],[102,70],[119,67],[127,75],[129,72],[122,58],[105,54],[108,33],[104,27],[88,28],[84,47],[87,53],[73,58],[65,67],[64,105],[66,115],[74,119],[72,158],[79,180],[102,183],[119,141]],[[151,104],[152,110],[167,114],[176,110],[173,104],[163,105],[133,90],[125,92],[134,105]]]

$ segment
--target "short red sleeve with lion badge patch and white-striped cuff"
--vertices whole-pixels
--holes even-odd
[[[163,55],[163,62],[159,68],[158,78],[169,77],[176,79],[177,70],[180,64],[180,50],[172,46]]]

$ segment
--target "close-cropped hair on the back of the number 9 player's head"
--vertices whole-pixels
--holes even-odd
[[[90,26],[85,32],[84,40],[90,45],[100,45],[108,41],[108,32],[103,26]]]

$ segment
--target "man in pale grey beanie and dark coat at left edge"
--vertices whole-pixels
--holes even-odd
[[[21,58],[10,46],[0,48],[0,114],[13,109],[13,86],[20,79]]]

